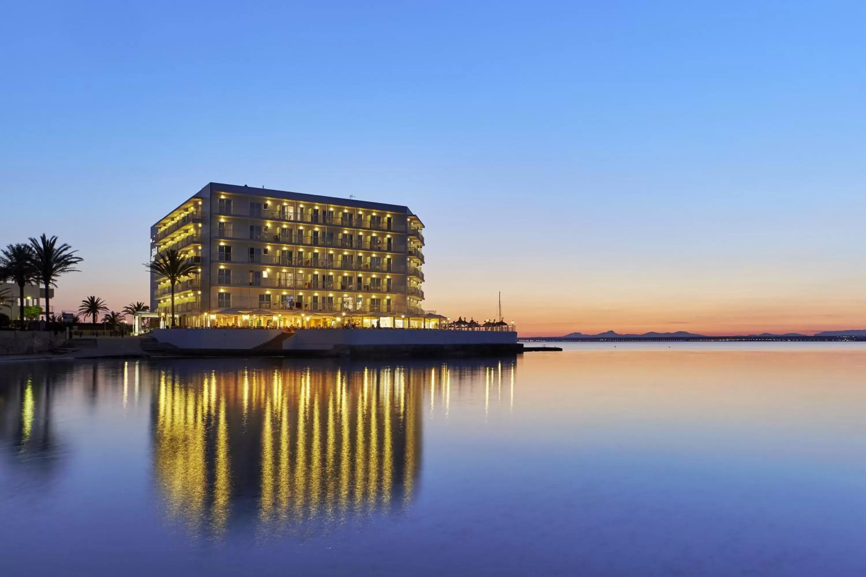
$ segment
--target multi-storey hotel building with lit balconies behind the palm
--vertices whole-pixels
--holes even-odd
[[[151,228],[151,255],[199,266],[175,287],[179,326],[395,327],[423,302],[423,223],[409,208],[209,183]],[[151,275],[151,310],[171,287]]]

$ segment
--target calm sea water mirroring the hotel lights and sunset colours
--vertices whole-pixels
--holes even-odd
[[[0,574],[866,574],[866,347],[565,347],[0,365]]]

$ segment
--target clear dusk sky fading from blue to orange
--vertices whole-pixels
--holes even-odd
[[[149,301],[209,182],[406,205],[522,335],[866,328],[864,3],[7,3],[0,244]]]

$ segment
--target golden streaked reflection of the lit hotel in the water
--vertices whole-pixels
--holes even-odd
[[[423,370],[277,367],[160,373],[154,469],[171,515],[221,529],[254,507],[298,523],[409,503]]]

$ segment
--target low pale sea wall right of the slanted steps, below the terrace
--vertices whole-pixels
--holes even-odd
[[[353,347],[404,347],[417,345],[514,344],[516,332],[486,330],[412,329],[308,329],[299,330],[282,343],[288,350],[326,350],[338,345]]]

